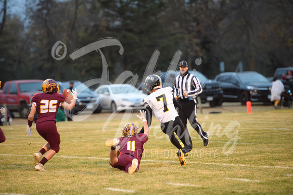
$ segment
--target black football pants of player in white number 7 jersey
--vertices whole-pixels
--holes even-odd
[[[174,121],[170,120],[169,122],[162,122],[161,129],[162,132],[169,136],[171,143],[179,150],[181,149],[184,154],[192,150],[192,142],[190,135],[187,131],[187,128],[184,127],[179,116],[177,116]],[[184,148],[182,148],[179,141],[176,139],[174,133],[176,133],[178,138],[184,144]]]

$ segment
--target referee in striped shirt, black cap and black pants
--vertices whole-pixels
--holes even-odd
[[[188,73],[188,64],[181,61],[179,64],[180,75],[174,79],[174,97],[181,104],[182,109],[179,111],[179,117],[186,128],[187,118],[191,126],[196,129],[204,141],[204,146],[209,145],[209,134],[197,121],[197,101],[195,97],[202,93],[203,89],[199,79]],[[193,98],[194,97],[194,98]]]

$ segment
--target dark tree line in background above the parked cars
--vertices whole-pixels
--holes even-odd
[[[213,79],[243,71],[272,77],[276,68],[293,61],[291,0],[26,0],[25,17],[10,14],[9,0],[0,0],[0,73],[3,82],[16,79],[58,81],[100,78],[99,53],[72,60],[74,50],[105,37],[118,39],[102,49],[110,81],[125,71],[142,77],[158,49],[157,69],[166,71],[174,53]],[[52,57],[57,41],[67,46],[62,60]],[[61,50],[61,54],[64,50]],[[194,61],[201,57],[200,66]]]

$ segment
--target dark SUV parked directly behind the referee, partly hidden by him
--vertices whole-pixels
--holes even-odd
[[[190,73],[196,75],[201,82],[203,92],[199,94],[199,97],[201,97],[202,103],[209,102],[211,107],[222,105],[223,90],[221,88],[221,83],[215,80],[209,80],[199,71],[191,71]],[[179,71],[169,71],[168,75],[167,72],[163,72],[162,75],[160,75],[163,87],[173,87],[174,79],[179,74]]]

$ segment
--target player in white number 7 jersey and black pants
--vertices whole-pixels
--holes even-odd
[[[152,111],[161,123],[161,130],[169,136],[171,143],[178,148],[177,155],[180,165],[186,165],[185,155],[192,150],[192,142],[187,129],[184,128],[180,120],[177,109],[181,109],[181,105],[173,97],[173,89],[171,87],[162,88],[162,79],[158,75],[150,75],[145,79],[144,91],[150,94],[142,100],[146,107],[146,120],[150,126],[152,123]],[[176,107],[176,108],[175,108]],[[143,128],[140,133],[143,133]],[[174,133],[184,144],[184,148],[176,139]]]

